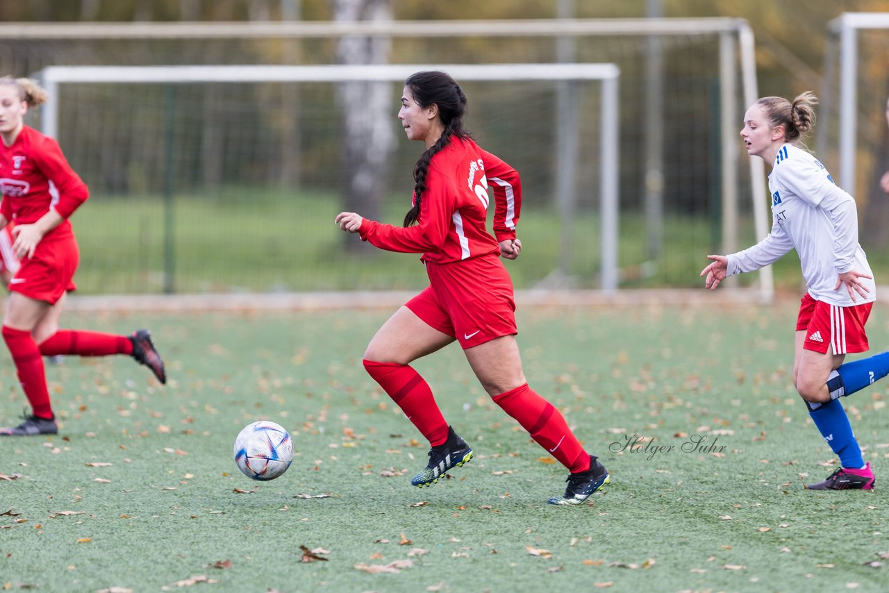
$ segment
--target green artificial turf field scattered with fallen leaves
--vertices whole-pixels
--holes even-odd
[[[361,366],[390,311],[69,314],[151,328],[170,381],[127,357],[47,365],[60,435],[0,440],[0,589],[885,590],[889,380],[843,400],[877,489],[805,490],[835,466],[791,385],[796,301],[519,307],[532,387],[611,473],[587,505],[546,504],[565,469],[456,345],[415,366],[476,457],[412,487],[427,445]],[[889,309],[869,336],[889,345]],[[298,452],[268,483],[232,458],[260,419]]]

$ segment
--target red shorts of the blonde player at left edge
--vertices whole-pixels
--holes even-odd
[[[74,236],[41,241],[34,257],[21,260],[19,271],[9,281],[9,290],[54,305],[65,292],[76,290],[74,273],[79,261]]]

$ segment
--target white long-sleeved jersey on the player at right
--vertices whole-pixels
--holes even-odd
[[[877,300],[873,280],[861,278],[867,297],[837,290],[837,276],[857,270],[873,276],[868,257],[858,244],[855,200],[830,177],[817,158],[792,144],[784,144],[769,175],[772,193],[772,232],[759,243],[728,256],[726,274],[734,276],[773,263],[796,249],[809,294],[816,301],[851,307]]]

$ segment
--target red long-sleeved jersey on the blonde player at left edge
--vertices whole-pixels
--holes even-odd
[[[72,236],[68,216],[89,196],[59,143],[27,125],[7,147],[0,142],[0,213],[16,224],[36,222],[50,208],[64,219],[44,240]]]

